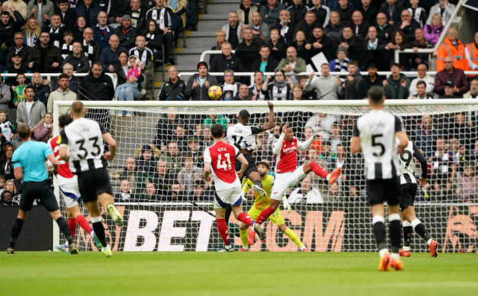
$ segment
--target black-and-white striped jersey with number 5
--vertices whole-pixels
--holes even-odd
[[[392,179],[400,175],[395,133],[402,130],[400,119],[383,110],[362,115],[353,128],[360,137],[367,180]]]

